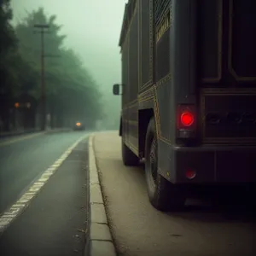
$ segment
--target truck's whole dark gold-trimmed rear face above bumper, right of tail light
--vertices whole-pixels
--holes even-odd
[[[208,87],[201,90],[202,141],[255,144],[256,127],[245,119],[253,119],[256,108],[256,2],[198,3],[199,71],[201,86]],[[231,120],[230,114],[241,122]],[[217,117],[221,121],[213,125]]]

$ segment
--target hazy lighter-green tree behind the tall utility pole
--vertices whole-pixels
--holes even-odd
[[[59,124],[56,125],[61,125],[63,117],[81,119],[85,116],[90,122],[101,118],[101,94],[96,82],[90,77],[79,55],[73,49],[63,46],[66,36],[60,34],[61,26],[56,23],[56,16],[48,17],[43,8],[28,13],[15,27],[19,39],[20,61],[23,61],[21,66],[29,71],[26,77],[22,77],[22,73],[19,75],[20,90],[39,99],[41,42],[35,34],[35,24],[49,25],[49,33],[44,37],[45,55],[59,56],[45,58],[47,103],[52,116],[59,118]]]

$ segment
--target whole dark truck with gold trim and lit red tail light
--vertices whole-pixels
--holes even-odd
[[[125,166],[145,161],[148,198],[256,181],[256,1],[130,0],[119,38]]]

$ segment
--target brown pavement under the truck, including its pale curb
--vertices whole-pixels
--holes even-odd
[[[155,210],[143,166],[124,166],[120,148],[118,131],[90,138],[90,183],[100,183],[97,198],[90,198],[91,255],[255,255],[255,219],[247,212],[216,210],[200,200],[188,201],[183,212]],[[101,237],[96,231],[103,227]]]

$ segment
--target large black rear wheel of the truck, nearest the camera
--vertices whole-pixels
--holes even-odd
[[[181,190],[158,173],[158,144],[154,118],[150,119],[145,142],[145,174],[150,203],[157,210],[176,211],[183,207]]]

